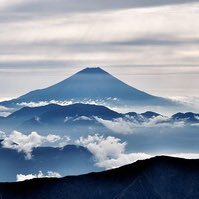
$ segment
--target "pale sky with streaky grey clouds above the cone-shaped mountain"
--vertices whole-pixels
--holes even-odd
[[[0,100],[100,66],[140,90],[199,97],[199,0],[1,0]]]

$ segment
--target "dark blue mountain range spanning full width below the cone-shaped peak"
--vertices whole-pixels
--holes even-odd
[[[122,114],[104,106],[91,104],[68,106],[49,104],[41,107],[24,107],[8,117],[1,117],[0,127],[4,131],[49,131],[49,129],[62,131],[69,126],[102,127],[103,124],[98,119],[114,121],[118,118],[137,124],[146,123],[155,118],[161,118],[157,120],[158,123],[184,122],[187,125],[199,123],[199,114],[191,112],[166,117],[151,111],[141,114],[136,112]]]

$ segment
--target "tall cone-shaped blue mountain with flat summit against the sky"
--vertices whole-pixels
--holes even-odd
[[[19,108],[20,103],[41,101],[103,101],[121,105],[176,105],[172,101],[133,88],[101,68],[85,68],[48,88],[31,91],[19,98],[1,102],[5,107]]]

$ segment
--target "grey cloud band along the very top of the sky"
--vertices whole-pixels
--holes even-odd
[[[4,2],[4,1],[3,1]],[[21,13],[37,13],[37,14],[59,14],[59,13],[75,13],[89,11],[118,10],[123,8],[140,8],[164,5],[176,5],[199,2],[198,0],[12,0],[6,1],[0,6],[6,8],[7,11]],[[13,5],[12,5],[13,4]]]

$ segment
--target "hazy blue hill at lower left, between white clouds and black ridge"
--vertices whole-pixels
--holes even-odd
[[[38,174],[39,171],[58,172],[62,176],[99,171],[94,166],[93,154],[76,145],[34,148],[31,159],[25,159],[23,152],[0,146],[0,162],[0,182],[13,182],[17,174]]]

